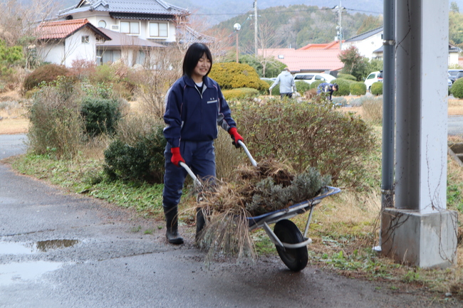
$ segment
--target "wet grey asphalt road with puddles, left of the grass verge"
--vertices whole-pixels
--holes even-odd
[[[0,135],[0,159],[24,152],[21,138]],[[0,164],[0,307],[461,307],[316,267],[293,273],[278,257],[208,269],[192,231],[175,247],[162,224]]]

